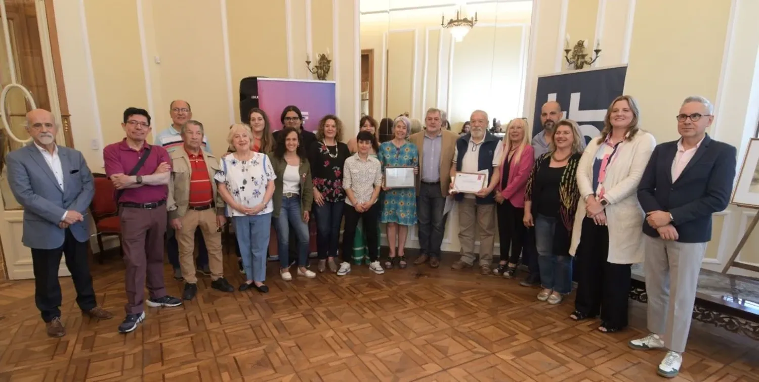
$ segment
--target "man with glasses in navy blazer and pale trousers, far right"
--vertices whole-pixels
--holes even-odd
[[[706,133],[713,109],[703,97],[685,99],[677,115],[681,138],[653,150],[638,186],[647,215],[644,271],[651,333],[629,346],[668,349],[658,370],[663,377],[675,377],[682,365],[712,214],[727,207],[735,178],[735,147]]]

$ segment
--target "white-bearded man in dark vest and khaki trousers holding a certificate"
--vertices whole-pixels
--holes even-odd
[[[475,110],[470,117],[471,133],[456,140],[451,177],[457,172],[476,173],[487,171],[488,184],[476,194],[456,193],[458,202],[458,240],[461,242],[461,258],[453,263],[453,269],[474,265],[474,225],[480,239],[480,274],[490,274],[493,260],[493,239],[496,234],[496,199],[493,189],[500,180],[501,139],[487,132],[488,117],[485,111]],[[454,182],[455,183],[455,182]],[[451,183],[452,189],[455,184]]]

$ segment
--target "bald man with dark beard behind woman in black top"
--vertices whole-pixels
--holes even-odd
[[[543,130],[532,138],[532,148],[535,150],[535,159],[549,151],[549,145],[553,139],[554,126],[561,121],[564,113],[562,105],[559,102],[549,101],[540,108],[540,126]],[[583,137],[584,138],[584,137]],[[580,148],[585,149],[585,140],[581,139]],[[540,270],[537,266],[537,248],[535,246],[535,231],[533,227],[528,228],[527,237],[524,238],[522,247],[522,261],[527,262],[530,274],[519,283],[521,286],[540,285]]]

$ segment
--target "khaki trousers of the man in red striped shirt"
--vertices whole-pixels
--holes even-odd
[[[222,233],[217,232],[216,208],[203,211],[188,209],[187,214],[179,219],[182,229],[177,230],[179,243],[179,267],[182,277],[187,283],[197,283],[195,276],[195,230],[200,227],[203,239],[208,249],[208,266],[211,268],[211,280],[219,280],[224,276],[222,258]]]

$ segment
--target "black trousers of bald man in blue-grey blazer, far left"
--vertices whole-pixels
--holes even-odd
[[[87,312],[97,306],[90,262],[87,258],[88,242],[80,243],[66,230],[63,245],[56,249],[32,249],[34,270],[34,302],[45,322],[61,317],[61,284],[58,283],[58,267],[61,255],[66,255],[66,268],[77,290],[77,304]]]

